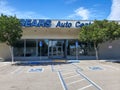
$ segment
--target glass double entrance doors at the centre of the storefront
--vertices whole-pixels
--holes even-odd
[[[63,58],[64,40],[49,40],[49,57],[50,58]]]

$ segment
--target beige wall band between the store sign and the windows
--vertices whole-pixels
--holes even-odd
[[[75,28],[23,28],[23,39],[77,39]]]

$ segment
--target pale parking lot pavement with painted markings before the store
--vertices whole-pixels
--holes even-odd
[[[120,63],[11,65],[0,62],[0,90],[120,90]]]

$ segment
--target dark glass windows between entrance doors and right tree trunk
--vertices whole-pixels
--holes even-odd
[[[78,42],[78,46],[76,47],[75,39],[67,40],[67,55],[75,56],[76,52],[78,56],[94,56],[95,50],[93,43],[84,43]],[[76,51],[77,50],[77,51]]]

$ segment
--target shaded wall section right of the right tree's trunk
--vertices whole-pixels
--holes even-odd
[[[99,56],[102,59],[120,59],[120,40],[101,44]]]

